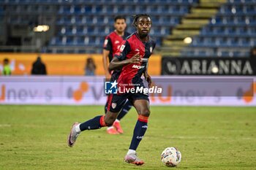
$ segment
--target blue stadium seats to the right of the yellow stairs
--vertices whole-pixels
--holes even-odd
[[[250,49],[255,46],[256,1],[229,0],[181,55],[249,57]]]

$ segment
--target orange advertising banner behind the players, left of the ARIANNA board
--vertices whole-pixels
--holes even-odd
[[[0,53],[0,65],[4,58],[10,60],[13,75],[31,74],[32,64],[36,61],[37,53]],[[96,75],[104,75],[101,54],[41,54],[48,75],[84,75],[87,58],[93,58],[96,64]],[[160,75],[161,56],[152,55],[148,63],[151,75]]]

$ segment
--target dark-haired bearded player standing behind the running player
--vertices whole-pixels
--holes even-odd
[[[121,42],[124,41],[127,36],[129,36],[129,33],[125,31],[125,28],[127,27],[126,18],[124,16],[116,16],[115,23],[114,23],[115,31],[111,32],[106,36],[104,46],[103,46],[103,66],[105,70],[105,77],[106,80],[110,80],[111,73],[108,69],[108,65],[110,61],[113,59],[113,55],[117,52],[118,48],[121,45]],[[119,76],[121,70],[116,69],[112,72],[113,79]],[[105,105],[105,112],[107,112],[108,102]],[[124,107],[121,109],[121,112],[118,114],[118,117],[116,118],[113,125],[109,126],[107,128],[108,134],[123,134],[123,129],[120,125],[120,120],[123,118],[127,112],[129,112],[129,109],[132,108],[132,104],[127,100],[127,102],[124,104]]]

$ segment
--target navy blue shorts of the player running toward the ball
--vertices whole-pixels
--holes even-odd
[[[125,94],[110,94],[106,104],[107,110],[110,112],[120,112],[124,107],[127,99],[133,104],[135,100],[144,99],[149,101],[148,95],[143,93],[125,93]]]

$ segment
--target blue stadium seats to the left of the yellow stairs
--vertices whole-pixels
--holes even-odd
[[[37,24],[33,15],[53,15],[54,36],[48,43],[48,52],[67,53],[79,51],[101,53],[104,38],[113,31],[115,15],[127,17],[127,31],[133,32],[132,15],[148,13],[154,27],[151,35],[158,45],[162,37],[171,33],[182,16],[189,12],[190,7],[198,0],[3,0],[9,16],[9,24]],[[138,5],[140,4],[140,5]],[[0,9],[1,12],[1,9]],[[64,49],[65,47],[65,49]],[[89,47],[89,48],[88,48]],[[91,47],[94,50],[91,51]],[[89,50],[86,50],[89,49]]]

